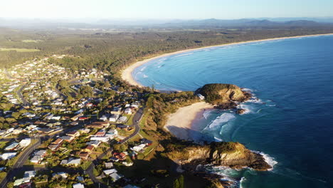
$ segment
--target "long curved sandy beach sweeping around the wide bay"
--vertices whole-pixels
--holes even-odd
[[[277,40],[284,40],[284,39],[289,39],[289,38],[303,38],[303,37],[311,37],[311,36],[332,36],[333,33],[326,33],[326,34],[314,34],[314,35],[305,35],[305,36],[286,36],[286,37],[280,37],[280,38],[266,38],[266,39],[260,39],[260,40],[254,40],[254,41],[243,41],[243,42],[236,42],[236,43],[225,43],[225,44],[219,44],[219,45],[213,45],[213,46],[205,46],[205,47],[200,47],[200,48],[191,48],[191,49],[186,49],[186,50],[181,50],[181,51],[175,51],[171,53],[164,53],[162,55],[157,55],[152,58],[146,58],[142,61],[137,61],[136,63],[132,63],[132,65],[127,66],[124,70],[121,71],[121,77],[122,80],[127,81],[130,85],[135,85],[138,87],[144,87],[144,85],[140,84],[135,80],[132,76],[132,72],[134,71],[135,68],[138,68],[139,66],[144,65],[145,63],[148,63],[149,61],[152,61],[157,58],[163,58],[166,56],[172,56],[172,55],[177,55],[179,53],[186,53],[190,51],[198,51],[206,48],[214,48],[214,47],[221,47],[221,46],[231,46],[231,45],[238,45],[238,44],[245,44],[245,43],[256,43],[256,42],[262,42],[262,41],[277,41]]]

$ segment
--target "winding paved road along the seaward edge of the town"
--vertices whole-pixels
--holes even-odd
[[[142,120],[143,113],[144,113],[144,108],[139,108],[139,110],[137,110],[137,113],[135,113],[135,115],[132,119],[132,121],[133,121],[132,126],[134,126],[135,130],[132,133],[132,135],[129,135],[124,140],[122,140],[120,142],[121,144],[127,142],[127,140],[131,139],[132,137],[137,135],[137,133],[139,133],[139,131],[140,131],[139,123]],[[93,180],[96,187],[107,188],[107,186],[105,184],[103,184],[99,179],[97,179],[95,177],[95,175],[93,174],[93,169],[94,169],[95,165],[98,164],[98,161],[100,159],[102,159],[103,157],[105,157],[105,155],[107,155],[107,152],[111,152],[111,151],[112,151],[112,148],[110,147],[108,150],[103,152],[101,155],[97,156],[97,158],[95,160],[93,160],[93,162],[89,165],[89,167],[86,170],[87,174],[89,175],[90,179]]]

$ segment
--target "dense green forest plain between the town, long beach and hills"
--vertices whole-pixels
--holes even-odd
[[[59,59],[53,63],[73,70],[99,68],[115,74],[139,58],[159,53],[238,41],[319,33],[333,33],[333,27],[161,29],[126,32],[20,31],[0,28],[0,68],[9,68],[31,58],[68,54],[73,57]]]

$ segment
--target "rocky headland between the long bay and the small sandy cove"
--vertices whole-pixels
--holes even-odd
[[[211,83],[196,90],[205,97],[206,102],[216,105],[219,109],[233,109],[236,102],[243,102],[251,98],[251,94],[241,90],[237,85],[226,83]]]

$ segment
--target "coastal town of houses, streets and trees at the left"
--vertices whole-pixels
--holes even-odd
[[[140,132],[143,93],[53,55],[0,71],[0,187],[135,187],[117,169],[156,144]]]

